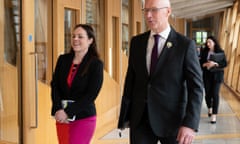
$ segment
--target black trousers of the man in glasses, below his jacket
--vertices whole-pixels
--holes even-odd
[[[158,137],[152,131],[148,120],[147,110],[145,110],[140,124],[136,128],[130,128],[130,144],[178,144],[177,136]]]

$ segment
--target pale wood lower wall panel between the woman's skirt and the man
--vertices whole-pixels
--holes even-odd
[[[96,101],[98,115],[97,137],[101,137],[101,135],[111,130],[113,126],[116,127],[119,111],[119,95],[120,85],[107,72],[104,72],[104,83]]]

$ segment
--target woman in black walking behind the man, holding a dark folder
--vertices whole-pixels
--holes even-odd
[[[227,66],[227,61],[224,57],[221,61],[216,62],[210,60],[210,56],[216,53],[223,53],[218,41],[213,36],[207,38],[205,48],[201,54],[201,66],[203,69],[203,81],[205,87],[205,101],[208,107],[208,116],[211,117],[211,123],[216,123],[219,106],[219,91],[223,82],[223,68]],[[216,70],[212,70],[217,68]]]

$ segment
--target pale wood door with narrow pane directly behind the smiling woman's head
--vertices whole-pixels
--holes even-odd
[[[73,27],[85,20],[85,0],[54,0],[53,10],[53,63],[70,48]]]

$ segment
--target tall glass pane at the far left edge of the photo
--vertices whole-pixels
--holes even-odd
[[[21,143],[21,5],[0,1],[0,143]]]

